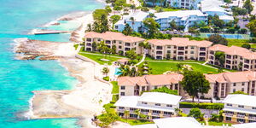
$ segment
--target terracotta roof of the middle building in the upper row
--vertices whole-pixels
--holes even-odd
[[[203,40],[189,40],[189,38],[172,38],[172,39],[150,39],[148,40],[149,44],[154,45],[176,45],[176,46],[198,46],[198,47],[210,47],[212,42]]]

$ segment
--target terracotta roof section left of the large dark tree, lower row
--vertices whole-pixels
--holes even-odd
[[[119,85],[164,85],[177,84],[183,79],[182,74],[160,74],[160,75],[146,75],[143,77],[120,77],[118,79]]]

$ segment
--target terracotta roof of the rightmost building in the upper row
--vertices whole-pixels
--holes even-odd
[[[256,59],[256,53],[245,48],[237,47],[237,46],[224,46],[222,44],[216,44],[209,48],[213,51],[222,51],[227,55],[239,55],[246,59]]]

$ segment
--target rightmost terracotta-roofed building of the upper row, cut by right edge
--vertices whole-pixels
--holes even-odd
[[[255,52],[237,46],[228,47],[222,44],[213,45],[208,49],[209,64],[218,65],[218,61],[215,59],[215,53],[218,51],[225,54],[224,68],[226,69],[239,69],[241,71],[254,71],[256,69]]]

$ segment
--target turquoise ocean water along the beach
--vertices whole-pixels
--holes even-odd
[[[96,0],[0,0],[0,127],[74,128],[76,119],[26,119],[32,90],[68,90],[77,80],[56,61],[17,61],[15,38],[67,42],[68,34],[26,35],[61,15],[102,8]],[[64,22],[67,24],[67,22]],[[67,28],[67,25],[59,26]],[[75,25],[73,25],[75,26]],[[70,29],[73,29],[71,26]],[[58,26],[55,26],[56,29]]]

